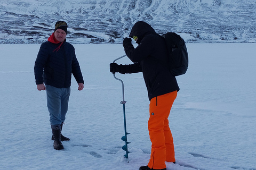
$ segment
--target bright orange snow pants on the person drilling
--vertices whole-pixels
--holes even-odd
[[[172,133],[168,117],[177,91],[154,97],[149,104],[148,131],[152,143],[148,167],[166,168],[166,162],[175,162]]]

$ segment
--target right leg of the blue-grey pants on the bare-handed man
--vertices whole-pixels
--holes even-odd
[[[65,122],[66,114],[68,112],[68,100],[70,96],[70,87],[69,88],[62,88],[62,95],[61,95],[61,122]]]

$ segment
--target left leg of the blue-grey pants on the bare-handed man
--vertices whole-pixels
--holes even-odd
[[[47,107],[51,125],[61,124],[61,88],[46,85]]]

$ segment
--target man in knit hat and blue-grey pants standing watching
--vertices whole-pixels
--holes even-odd
[[[46,90],[53,147],[57,150],[63,149],[61,141],[69,140],[61,134],[61,130],[68,111],[71,74],[78,83],[78,90],[84,88],[75,48],[66,42],[67,28],[64,21],[55,23],[54,32],[39,49],[34,67],[37,89]]]

